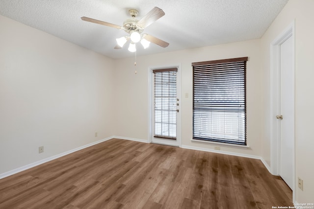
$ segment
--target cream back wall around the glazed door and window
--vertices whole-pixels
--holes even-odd
[[[260,40],[207,46],[137,57],[137,74],[134,74],[134,58],[116,60],[114,133],[117,136],[147,140],[148,127],[148,77],[149,68],[181,64],[182,66],[182,145],[213,149],[213,145],[192,142],[192,62],[249,57],[247,62],[247,142],[249,149],[221,147],[229,151],[260,156],[261,141],[261,67]],[[185,98],[185,93],[189,97]]]

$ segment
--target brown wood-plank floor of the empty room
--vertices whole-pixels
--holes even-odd
[[[0,180],[0,209],[293,206],[260,160],[110,139]]]

